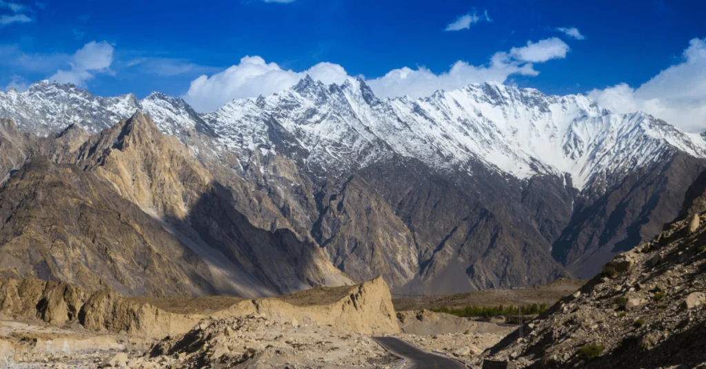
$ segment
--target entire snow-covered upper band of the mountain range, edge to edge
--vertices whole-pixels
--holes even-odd
[[[40,134],[71,123],[100,131],[136,110],[177,136],[205,121],[215,133],[215,148],[244,160],[258,150],[277,151],[332,171],[402,155],[439,171],[470,171],[481,162],[519,179],[570,174],[581,189],[676,150],[706,157],[700,135],[648,114],[614,114],[583,95],[544,95],[500,83],[439,90],[420,99],[381,99],[360,79],[324,85],[306,76],[282,92],[236,99],[210,114],[197,114],[183,99],[160,92],[142,100],[97,97],[48,81],[25,92],[0,92],[0,116]]]

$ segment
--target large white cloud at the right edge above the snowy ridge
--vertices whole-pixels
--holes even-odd
[[[617,113],[645,111],[685,131],[706,128],[706,39],[695,38],[683,60],[633,88],[625,83],[589,97]]]

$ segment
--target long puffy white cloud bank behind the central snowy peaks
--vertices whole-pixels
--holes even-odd
[[[544,45],[545,41],[539,41],[537,44],[530,42],[528,47],[536,48],[533,45]],[[568,47],[566,49],[568,50]],[[503,83],[510,75],[538,75],[539,72],[534,70],[534,65],[529,61],[563,58],[566,56],[566,51],[563,54],[546,53],[541,58],[535,56],[535,54],[539,54],[538,52],[517,52],[515,54],[517,56],[513,55],[512,50],[509,53],[497,52],[488,63],[481,66],[473,66],[466,61],[457,61],[453,66],[450,66],[448,71],[439,74],[433,73],[429,68],[423,66],[398,68],[379,78],[366,80],[366,83],[380,97],[404,95],[422,97],[431,95],[436,90],[453,90],[469,83],[486,81]],[[530,58],[526,54],[533,57]],[[306,71],[295,72],[282,69],[277,63],[266,63],[260,56],[246,56],[240,60],[240,63],[225,71],[215,73],[210,77],[201,75],[191,81],[191,86],[184,94],[184,99],[198,111],[213,111],[232,99],[271,95],[284,90],[296,84],[307,74],[326,84],[342,83],[348,78],[345,69],[333,63],[318,63]]]

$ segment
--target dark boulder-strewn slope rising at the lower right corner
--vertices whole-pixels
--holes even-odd
[[[706,367],[705,190],[695,182],[682,219],[616,256],[491,357],[532,368]]]

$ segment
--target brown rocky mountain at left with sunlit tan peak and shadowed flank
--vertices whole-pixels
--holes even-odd
[[[272,296],[351,283],[312,241],[250,224],[230,190],[148,116],[82,130],[20,136],[27,161],[0,187],[4,277],[151,296]]]

